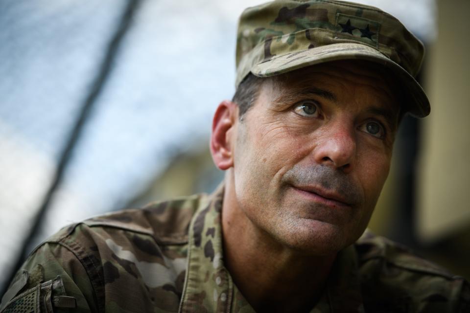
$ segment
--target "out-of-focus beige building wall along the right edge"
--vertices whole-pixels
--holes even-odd
[[[431,115],[420,157],[417,230],[426,242],[470,226],[470,1],[438,4],[426,78]]]

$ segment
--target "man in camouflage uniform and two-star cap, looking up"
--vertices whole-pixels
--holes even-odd
[[[247,9],[212,126],[224,183],[62,229],[1,312],[469,312],[463,278],[364,233],[401,117],[429,113],[422,58],[373,7]]]

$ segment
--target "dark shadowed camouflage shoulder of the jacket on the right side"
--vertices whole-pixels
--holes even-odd
[[[470,309],[470,286],[463,277],[369,231],[354,246],[366,308],[388,307],[397,312]]]

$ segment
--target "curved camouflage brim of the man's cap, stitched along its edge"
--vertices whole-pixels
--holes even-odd
[[[269,77],[295,69],[338,60],[365,60],[390,68],[400,80],[406,99],[404,109],[415,117],[429,114],[430,106],[420,84],[403,67],[367,45],[340,43],[275,56],[252,67],[258,77]]]

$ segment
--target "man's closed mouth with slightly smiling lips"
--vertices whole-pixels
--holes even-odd
[[[333,190],[326,190],[317,186],[294,186],[290,185],[294,191],[310,201],[327,205],[332,208],[351,208],[352,203],[344,196]]]

